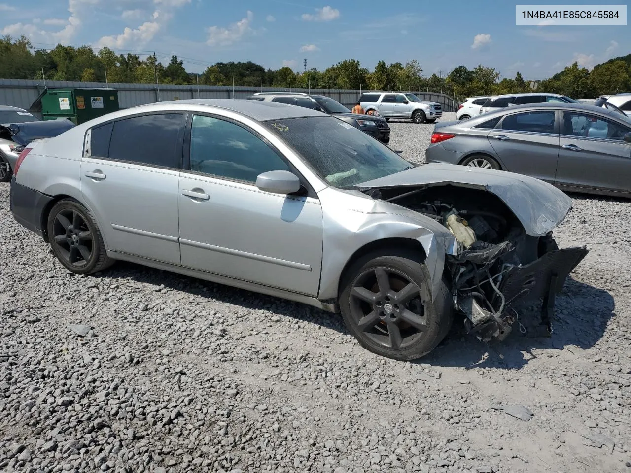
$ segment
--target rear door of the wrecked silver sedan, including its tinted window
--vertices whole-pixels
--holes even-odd
[[[86,134],[81,193],[110,250],[180,264],[177,194],[185,115],[138,115]]]

